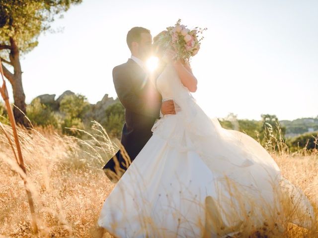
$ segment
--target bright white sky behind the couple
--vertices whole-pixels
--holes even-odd
[[[90,103],[116,97],[112,68],[130,57],[128,30],[155,36],[178,18],[208,28],[192,68],[209,116],[318,115],[317,0],[83,0],[52,25],[62,33],[41,35],[21,60],[26,103],[66,90]]]

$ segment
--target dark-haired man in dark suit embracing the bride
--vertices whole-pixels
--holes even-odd
[[[152,42],[150,30],[133,27],[127,34],[131,58],[113,68],[115,90],[125,108],[121,144],[131,162],[152,136],[151,129],[160,112],[163,115],[175,114],[173,101],[161,103],[161,95],[156,89],[160,70],[150,74],[145,65],[152,54]],[[119,150],[103,168],[112,182],[117,182],[129,166],[123,153],[124,150]]]

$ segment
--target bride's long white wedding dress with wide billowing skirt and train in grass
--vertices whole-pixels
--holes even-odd
[[[98,225],[117,237],[225,237],[305,228],[315,214],[304,193],[284,179],[252,137],[223,128],[196,104],[168,64],[157,79],[165,115],[106,198]],[[211,105],[213,106],[213,105]]]

